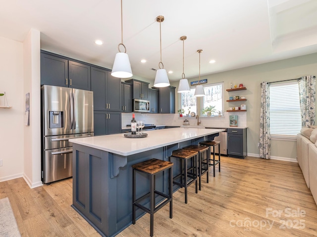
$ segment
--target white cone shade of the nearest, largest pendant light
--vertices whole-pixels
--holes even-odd
[[[133,76],[128,54],[116,53],[111,76],[115,78],[131,78]]]

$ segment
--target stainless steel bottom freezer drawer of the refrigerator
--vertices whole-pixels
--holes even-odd
[[[45,151],[44,183],[72,177],[73,148],[60,148]]]

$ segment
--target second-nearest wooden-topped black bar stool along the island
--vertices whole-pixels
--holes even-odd
[[[169,157],[169,161],[172,158],[177,158],[180,161],[179,171],[180,173],[173,177],[173,184],[176,184],[182,188],[185,188],[185,203],[187,203],[187,187],[195,182],[196,184],[196,194],[198,193],[197,189],[197,177],[198,177],[198,164],[197,164],[197,155],[198,152],[180,149],[172,152],[172,155]],[[191,159],[190,167],[188,167],[187,160]],[[180,182],[177,180],[180,179]]]

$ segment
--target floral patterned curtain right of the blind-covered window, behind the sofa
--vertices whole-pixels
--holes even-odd
[[[315,124],[316,77],[306,76],[298,80],[302,127]]]

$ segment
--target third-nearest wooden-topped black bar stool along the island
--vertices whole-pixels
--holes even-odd
[[[210,152],[209,147],[205,146],[197,146],[192,145],[188,147],[184,147],[183,149],[191,150],[198,152],[198,177],[199,177],[199,190],[202,190],[202,175],[207,173],[207,183],[209,183],[209,159],[210,159]],[[206,154],[206,158],[204,157],[204,154]]]

